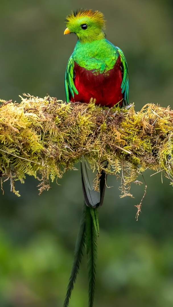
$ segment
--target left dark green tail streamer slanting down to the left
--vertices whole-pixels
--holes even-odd
[[[63,307],[67,307],[69,305],[69,299],[74,288],[74,283],[76,282],[77,274],[79,272],[79,266],[81,263],[81,258],[83,256],[83,249],[85,247],[85,215],[86,215],[86,205],[84,204],[82,216],[81,216],[81,223],[79,232],[77,235],[75,250],[74,250],[74,260],[73,266],[71,270],[71,275],[69,279],[69,285],[67,287],[67,293],[64,301]]]

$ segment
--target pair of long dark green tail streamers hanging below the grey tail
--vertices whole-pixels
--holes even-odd
[[[66,297],[63,307],[68,307],[69,299],[76,282],[77,274],[81,259],[83,256],[84,247],[87,253],[87,266],[88,266],[88,307],[93,307],[94,292],[95,292],[95,275],[96,275],[96,260],[97,260],[97,237],[99,235],[99,222],[97,209],[88,207],[84,203],[83,212],[77,241],[74,250],[73,266],[69,278],[69,285],[67,287]]]

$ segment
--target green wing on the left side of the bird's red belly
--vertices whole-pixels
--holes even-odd
[[[78,91],[74,85],[73,77],[74,77],[74,60],[73,57],[70,56],[65,72],[65,95],[67,102],[69,102],[69,91],[72,94],[73,98],[74,98],[74,93],[78,94]]]

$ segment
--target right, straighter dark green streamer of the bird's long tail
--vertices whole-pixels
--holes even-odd
[[[93,307],[94,303],[98,236],[97,225],[97,209],[86,206],[86,250],[89,277],[88,307]]]

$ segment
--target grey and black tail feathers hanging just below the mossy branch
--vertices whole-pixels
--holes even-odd
[[[108,164],[106,161],[105,166]],[[81,162],[82,189],[84,193],[85,204],[92,208],[102,205],[104,200],[104,192],[106,187],[107,175],[104,170],[101,171],[99,192],[95,191],[94,179],[97,177],[97,170],[92,170],[87,160],[82,157]]]

